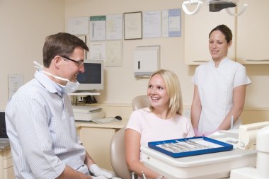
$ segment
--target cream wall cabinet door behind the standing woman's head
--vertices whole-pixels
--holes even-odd
[[[184,13],[183,16],[185,19],[185,64],[201,64],[212,59],[208,50],[208,35],[217,25],[227,25],[235,36],[236,18],[229,16],[225,9],[219,12],[210,12],[208,4],[204,3],[198,13],[194,15]],[[234,60],[234,44],[231,45],[228,53],[228,57]]]

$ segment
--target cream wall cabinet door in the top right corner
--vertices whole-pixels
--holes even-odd
[[[246,11],[238,16],[236,61],[242,64],[269,64],[269,1],[244,0]]]

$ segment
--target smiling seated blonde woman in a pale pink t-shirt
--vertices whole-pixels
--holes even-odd
[[[148,142],[193,137],[193,127],[182,116],[181,86],[175,73],[161,69],[151,75],[147,96],[149,108],[135,110],[125,129],[125,156],[130,171],[142,178],[164,179],[141,161],[140,147]]]

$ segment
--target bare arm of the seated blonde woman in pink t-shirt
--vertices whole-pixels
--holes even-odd
[[[158,173],[151,171],[140,161],[140,137],[134,129],[125,129],[125,158],[130,171],[142,177],[142,171],[147,179],[159,177]]]

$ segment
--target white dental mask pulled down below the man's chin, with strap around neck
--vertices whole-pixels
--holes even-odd
[[[55,79],[59,79],[59,80],[62,80],[62,81],[67,81],[67,84],[65,86],[62,85],[62,84],[57,83],[57,85],[59,85],[65,93],[73,93],[74,91],[77,90],[77,88],[79,88],[79,81],[72,82],[69,79],[64,79],[64,78],[62,78],[60,76],[50,74],[50,72],[44,71],[43,70],[44,67],[41,64],[39,64],[38,62],[34,61],[34,64],[37,65],[37,66],[35,66],[35,68],[38,68],[38,70],[42,71],[44,74],[53,76]]]

